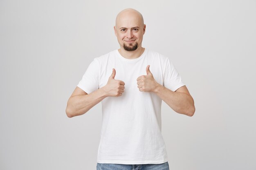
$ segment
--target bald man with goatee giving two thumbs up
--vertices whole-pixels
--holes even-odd
[[[67,102],[68,117],[102,102],[97,170],[168,170],[162,100],[177,113],[195,112],[193,98],[168,57],[141,46],[145,29],[141,13],[121,11],[114,26],[120,49],[94,58]]]

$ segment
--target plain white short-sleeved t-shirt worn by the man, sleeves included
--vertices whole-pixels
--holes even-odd
[[[98,163],[159,164],[168,161],[162,137],[162,99],[141,92],[137,78],[146,75],[146,66],[157,83],[176,91],[184,86],[168,57],[145,49],[136,59],[126,59],[118,50],[94,58],[77,85],[86,93],[105,86],[115,68],[115,79],[125,83],[119,97],[106,97],[102,104],[101,139]]]

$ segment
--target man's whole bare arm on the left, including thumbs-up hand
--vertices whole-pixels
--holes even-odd
[[[76,87],[72,95],[67,101],[66,114],[67,117],[74,117],[85,114],[93,106],[101,102],[105,97],[119,97],[124,93],[124,82],[115,79],[116,71],[113,72],[108,79],[108,83],[94,91],[87,94],[81,88]]]

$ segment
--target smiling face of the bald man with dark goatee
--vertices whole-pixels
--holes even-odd
[[[117,18],[114,26],[120,48],[126,51],[135,51],[141,47],[146,25],[137,13],[123,13]]]

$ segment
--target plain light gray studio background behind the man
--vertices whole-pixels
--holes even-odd
[[[162,104],[170,170],[255,170],[255,0],[0,0],[0,169],[96,170],[101,103],[65,108],[128,7],[195,100],[193,117]]]

